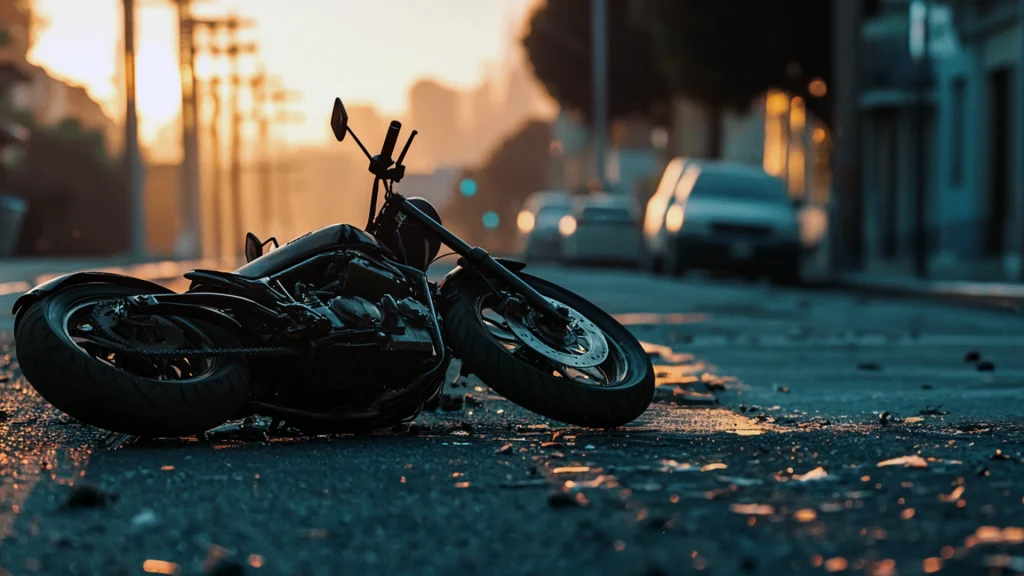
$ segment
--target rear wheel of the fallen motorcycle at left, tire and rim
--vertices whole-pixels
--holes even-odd
[[[239,339],[186,318],[148,316],[118,324],[102,307],[141,293],[118,284],[86,284],[23,311],[14,343],[32,387],[86,424],[134,436],[189,436],[234,417],[249,396],[245,359],[145,353],[241,347]],[[139,354],[119,352],[125,347]]]

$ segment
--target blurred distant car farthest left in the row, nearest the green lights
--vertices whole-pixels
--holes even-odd
[[[524,260],[560,260],[562,236],[558,222],[572,211],[572,197],[564,192],[538,192],[526,198],[516,217],[519,250]]]

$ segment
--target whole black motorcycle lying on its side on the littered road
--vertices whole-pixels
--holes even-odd
[[[647,409],[653,367],[617,321],[395,192],[416,130],[393,160],[399,122],[376,156],[340,98],[331,127],[370,162],[365,230],[333,224],[281,246],[249,233],[246,264],[189,272],[183,293],[98,272],[45,282],[13,308],[32,386],[84,423],[139,437],[252,415],[321,433],[398,425],[439,398],[454,357],[462,375],[553,420],[609,428]],[[460,258],[435,283],[441,244]]]

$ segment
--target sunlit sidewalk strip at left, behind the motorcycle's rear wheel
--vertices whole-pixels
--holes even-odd
[[[106,272],[134,276],[151,282],[180,277],[196,269],[234,270],[233,259],[155,260],[140,262],[130,257],[110,258],[12,258],[0,260],[0,296],[18,294],[65,274]]]

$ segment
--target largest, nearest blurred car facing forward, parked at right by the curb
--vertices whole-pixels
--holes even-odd
[[[727,162],[686,168],[665,215],[665,269],[719,270],[800,282],[801,227],[784,183]]]

